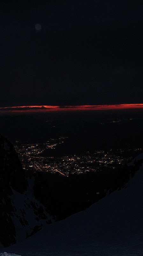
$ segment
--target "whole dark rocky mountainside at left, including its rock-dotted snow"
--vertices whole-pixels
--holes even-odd
[[[51,223],[52,217],[33,195],[35,179],[25,173],[13,145],[0,137],[0,243],[15,244]]]

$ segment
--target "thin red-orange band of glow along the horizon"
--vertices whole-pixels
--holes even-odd
[[[1,112],[49,112],[49,111],[88,111],[88,110],[116,110],[116,109],[133,109],[143,108],[143,104],[116,104],[116,105],[80,105],[80,106],[17,106],[0,108]]]

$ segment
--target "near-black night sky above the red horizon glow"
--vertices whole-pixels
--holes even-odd
[[[1,1],[0,52],[0,107],[142,103],[143,2]]]

